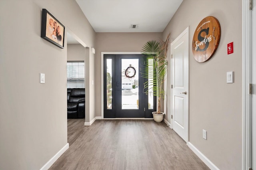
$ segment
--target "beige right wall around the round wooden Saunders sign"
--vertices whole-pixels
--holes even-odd
[[[221,38],[214,56],[198,63],[192,55],[192,37],[206,16],[216,17]],[[164,30],[172,41],[190,27],[189,141],[220,169],[242,169],[242,0],[184,0]],[[171,41],[171,42],[172,42]],[[227,44],[234,53],[227,55]],[[234,83],[226,72],[234,71]],[[202,138],[207,130],[207,140]]]

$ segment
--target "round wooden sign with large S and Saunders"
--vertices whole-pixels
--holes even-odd
[[[214,55],[220,41],[220,23],[213,17],[204,18],[196,27],[192,51],[198,62],[207,61]]]

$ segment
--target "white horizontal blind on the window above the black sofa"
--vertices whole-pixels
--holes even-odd
[[[67,62],[67,88],[84,88],[84,61]]]

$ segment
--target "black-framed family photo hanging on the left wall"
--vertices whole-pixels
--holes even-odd
[[[63,49],[64,34],[65,26],[46,9],[42,9],[41,38]]]

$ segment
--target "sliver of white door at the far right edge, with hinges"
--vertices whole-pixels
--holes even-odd
[[[256,170],[256,4],[252,8],[252,169]]]

